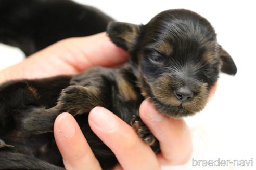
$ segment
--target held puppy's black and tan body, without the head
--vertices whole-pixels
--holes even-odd
[[[1,124],[0,135],[6,144],[15,147],[3,147],[0,150],[31,155],[51,164],[63,166],[54,136],[46,132],[52,131],[54,119],[58,114],[68,111],[73,115],[78,114],[75,115],[75,119],[101,166],[111,167],[117,160],[89,129],[86,121],[88,112],[95,106],[103,106],[130,124],[132,116],[137,115],[139,104],[144,99],[136,82],[137,78],[127,66],[125,69],[96,67],[72,77],[21,80],[3,84],[0,93],[1,103],[3,103],[1,119],[4,123]],[[65,88],[61,99],[64,102],[63,105],[58,105],[59,108],[53,107],[61,90]],[[15,98],[8,97],[14,95]],[[68,101],[70,101],[69,104]],[[16,103],[18,106],[15,105]],[[157,145],[153,147],[156,151],[158,150]],[[0,155],[3,156],[0,158],[0,169],[1,166],[5,168],[13,166],[9,161],[1,160],[6,158],[5,154],[0,151]],[[1,164],[1,162],[7,164]],[[24,163],[28,164],[27,160],[24,160]],[[17,164],[17,161],[14,164]]]

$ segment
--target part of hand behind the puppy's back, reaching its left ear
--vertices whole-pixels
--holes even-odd
[[[106,33],[61,40],[0,72],[0,83],[83,72],[94,66],[114,67],[129,58]]]

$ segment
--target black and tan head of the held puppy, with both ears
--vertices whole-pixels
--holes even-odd
[[[113,22],[107,32],[113,43],[130,52],[142,94],[166,116],[202,110],[219,72],[237,71],[211,24],[189,10],[163,11],[146,25]]]

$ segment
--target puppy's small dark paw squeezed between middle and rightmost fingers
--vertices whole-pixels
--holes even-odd
[[[145,141],[145,143],[147,143],[153,149],[153,151],[155,151],[156,153],[160,151],[159,141],[149,131],[148,127],[143,123],[139,116],[133,115],[131,126],[138,134],[138,136],[142,138]]]

